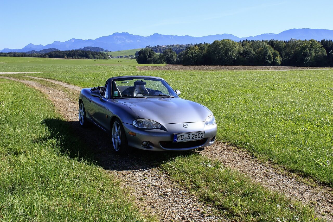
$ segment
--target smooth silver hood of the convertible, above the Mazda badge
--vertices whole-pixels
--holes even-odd
[[[203,122],[212,113],[203,105],[181,98],[118,99],[142,119],[161,124]]]

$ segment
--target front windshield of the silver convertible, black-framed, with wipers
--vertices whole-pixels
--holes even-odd
[[[178,97],[163,79],[121,78],[112,83],[113,98]]]

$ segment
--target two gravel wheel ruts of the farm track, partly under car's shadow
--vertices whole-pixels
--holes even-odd
[[[123,185],[130,189],[137,203],[143,209],[157,215],[161,220],[206,221],[210,219],[214,221],[219,219],[219,217],[202,215],[202,211],[209,214],[212,213],[212,210],[198,202],[195,197],[177,188],[169,177],[160,171],[159,164],[174,154],[134,150],[128,156],[119,156],[111,151],[110,141],[105,139],[106,134],[96,127],[88,129],[80,127],[77,121],[78,103],[73,101],[64,91],[29,80],[2,78],[23,82],[48,95],[56,109],[72,125],[76,135],[91,148],[97,164],[124,181]],[[80,87],[55,80],[30,78],[49,81],[77,93],[81,90]],[[248,175],[254,182],[258,182],[270,190],[284,193],[291,199],[313,206],[318,216],[333,221],[332,188],[307,185],[300,182],[300,177],[297,175],[290,174],[280,168],[276,169],[270,162],[261,163],[250,153],[220,142],[216,142],[200,153]]]

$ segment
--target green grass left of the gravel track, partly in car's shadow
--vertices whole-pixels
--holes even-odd
[[[0,220],[154,220],[118,180],[90,162],[39,91],[0,79],[0,94]]]

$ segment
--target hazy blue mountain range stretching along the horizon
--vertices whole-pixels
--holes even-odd
[[[333,30],[328,29],[289,29],[278,34],[274,33],[266,33],[260,34],[256,36],[248,36],[248,37],[237,37],[231,34],[217,34],[217,35],[208,35],[202,37],[193,37],[189,35],[177,36],[177,35],[161,35],[155,33],[150,36],[140,36],[140,35],[132,35],[128,32],[116,32],[109,36],[102,36],[97,39],[70,39],[65,42],[54,41],[51,44],[47,45],[34,45],[32,43],[26,45],[22,49],[8,49],[4,48],[0,52],[26,52],[32,50],[42,50],[48,48],[57,48],[59,50],[71,50],[71,49],[80,49],[86,46],[91,47],[101,47],[104,49],[108,49],[109,51],[118,51],[118,50],[126,50],[126,49],[137,49],[144,48],[147,45],[171,45],[171,44],[195,44],[195,43],[211,43],[214,40],[221,39],[231,39],[233,41],[241,41],[241,40],[290,40],[294,39],[333,39]]]

